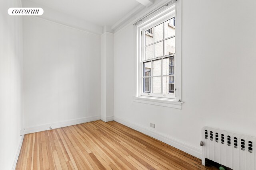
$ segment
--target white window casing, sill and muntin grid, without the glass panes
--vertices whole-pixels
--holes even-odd
[[[158,105],[158,106],[164,106],[164,107],[173,107],[173,108],[177,108],[177,109],[182,109],[182,99],[181,99],[181,57],[182,57],[182,50],[181,50],[181,26],[182,26],[182,12],[181,12],[181,6],[182,6],[182,0],[177,0],[174,3],[161,8],[160,10],[158,10],[157,12],[154,12],[154,14],[151,14],[150,16],[146,17],[143,19],[143,21],[141,21],[140,23],[137,23],[136,25],[134,25],[134,33],[135,33],[135,56],[136,56],[136,60],[135,60],[135,72],[134,72],[134,76],[136,79],[136,83],[134,85],[134,102],[139,102],[139,103],[146,103],[146,104],[153,104],[153,105]],[[154,53],[153,53],[153,57],[150,59],[146,59],[145,58],[145,47],[147,47],[146,43],[145,43],[145,34],[146,35],[151,35],[150,31],[149,32],[145,32],[145,30],[148,30],[150,28],[155,28],[156,26],[158,26],[159,24],[164,23],[165,25],[165,21],[169,20],[171,18],[175,17],[175,26],[174,24],[168,23],[168,26],[175,28],[175,35],[172,36],[175,38],[175,53],[169,53],[169,55],[166,55],[166,50],[163,50],[163,56],[161,57],[156,57],[154,58]],[[166,29],[164,29],[164,35],[165,35],[165,31]],[[162,42],[163,41],[163,48],[165,48],[165,41],[168,39],[171,39],[172,37],[163,37],[163,40],[160,41],[154,41],[152,42],[152,46],[154,47],[154,44],[158,43],[158,42]],[[149,44],[150,45],[150,44]],[[152,48],[153,48],[152,47]],[[154,50],[153,50],[154,51]],[[165,58],[168,57],[173,57],[175,64],[174,64],[174,75],[173,74],[164,74],[163,73],[163,68],[162,70],[162,74],[158,75],[158,76],[154,76],[152,75],[152,63],[154,61],[161,61],[162,62],[162,67],[163,67],[163,60]],[[151,74],[149,77],[146,77],[145,75],[143,75],[143,71],[144,71],[144,63],[146,62],[151,62]],[[169,65],[171,66],[171,65]],[[150,72],[149,70],[146,70],[146,72]],[[171,93],[164,93],[163,87],[164,87],[164,78],[166,78],[167,81],[167,77],[172,77],[174,76],[174,83],[170,83],[170,79],[169,79],[169,84],[171,88],[175,89],[174,92],[171,91]],[[146,82],[146,78],[150,78],[147,80],[151,82],[151,86],[150,86],[150,90],[145,90],[143,92],[144,87],[144,83],[143,83],[143,78],[145,78],[145,82]],[[152,78],[158,78],[158,80],[160,80],[161,78],[161,93],[152,93]],[[173,78],[173,77],[172,77]],[[149,85],[148,85],[149,86]],[[169,86],[168,86],[169,87]],[[169,88],[170,91],[170,88]]]

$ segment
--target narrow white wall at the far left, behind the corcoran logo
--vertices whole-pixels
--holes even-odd
[[[18,0],[0,1],[0,165],[10,170],[22,137],[22,18],[7,10]]]

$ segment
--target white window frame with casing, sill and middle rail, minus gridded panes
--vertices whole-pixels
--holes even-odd
[[[138,23],[134,26],[134,33],[135,33],[135,39],[136,39],[136,47],[135,47],[135,53],[136,53],[136,71],[134,76],[136,77],[136,84],[134,87],[134,102],[140,102],[140,103],[146,103],[146,104],[154,104],[154,105],[160,105],[165,107],[174,107],[181,109],[182,108],[182,102],[181,102],[181,3],[182,0],[177,0],[173,4],[170,4],[169,6],[166,6],[154,14],[151,14],[147,18],[143,20],[143,22]],[[175,6],[174,6],[175,5]],[[173,13],[175,9],[175,13]],[[174,55],[166,55],[164,57],[158,57],[149,59],[147,61],[151,60],[157,60],[162,59],[166,57],[175,56],[175,71],[174,71],[174,82],[176,88],[174,94],[152,94],[152,93],[143,93],[143,62],[145,60],[142,60],[144,57],[144,49],[143,47],[143,41],[144,38],[144,30],[150,29],[154,25],[158,25],[164,20],[171,19],[173,16],[176,18],[176,26],[175,26],[175,38],[176,38],[176,52]],[[164,30],[165,31],[165,30]],[[164,38],[165,39],[165,38]],[[154,42],[153,42],[154,43]],[[165,52],[165,51],[164,51]],[[143,62],[142,62],[143,61]],[[167,75],[168,76],[168,75]],[[152,86],[152,84],[151,84]],[[152,91],[151,91],[152,92]]]

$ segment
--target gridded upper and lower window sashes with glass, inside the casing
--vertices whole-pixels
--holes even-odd
[[[170,16],[142,30],[141,96],[175,98],[175,25],[175,16]]]

